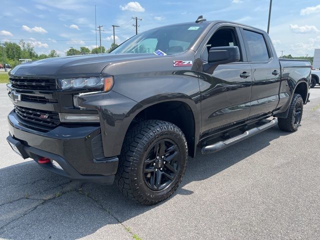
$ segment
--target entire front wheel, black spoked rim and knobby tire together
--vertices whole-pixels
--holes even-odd
[[[178,187],[187,155],[185,137],[176,125],[142,121],[126,134],[115,182],[131,199],[145,205],[158,203]]]

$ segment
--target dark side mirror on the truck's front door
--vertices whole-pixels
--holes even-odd
[[[218,65],[240,60],[240,51],[237,46],[211,47],[208,53],[209,65]]]

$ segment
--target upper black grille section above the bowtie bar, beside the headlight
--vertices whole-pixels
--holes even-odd
[[[9,78],[12,87],[29,90],[54,90],[55,79],[52,78]]]

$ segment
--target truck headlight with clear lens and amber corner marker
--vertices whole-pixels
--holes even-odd
[[[104,91],[111,89],[113,85],[112,76],[107,77],[77,77],[77,78],[60,78],[56,80],[58,88],[73,89],[83,87],[103,87]]]

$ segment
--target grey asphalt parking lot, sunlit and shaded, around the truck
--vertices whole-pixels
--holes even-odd
[[[198,152],[173,196],[143,206],[115,185],[70,182],[16,155],[0,84],[0,238],[319,239],[320,86],[310,99],[296,132],[273,127]]]

